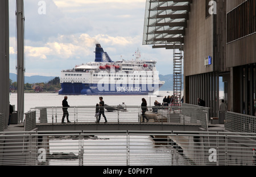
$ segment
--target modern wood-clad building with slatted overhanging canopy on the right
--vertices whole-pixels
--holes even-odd
[[[228,110],[255,115],[255,11],[256,0],[147,0],[143,44],[180,45],[185,103],[201,98],[218,116],[222,77]]]

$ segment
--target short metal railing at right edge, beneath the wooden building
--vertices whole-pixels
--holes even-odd
[[[226,111],[225,129],[230,132],[256,133],[256,117]]]

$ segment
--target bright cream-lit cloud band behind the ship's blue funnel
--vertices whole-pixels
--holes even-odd
[[[56,39],[51,38],[46,44],[40,47],[26,46],[25,52],[28,60],[46,60],[51,57],[59,60],[86,57],[92,54],[96,43],[101,43],[107,47],[129,47],[133,43],[138,43],[138,37],[121,37],[109,35],[97,35],[94,37],[86,33],[81,35],[61,35]],[[57,60],[57,59],[55,59]]]

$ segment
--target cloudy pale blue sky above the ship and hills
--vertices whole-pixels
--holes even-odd
[[[146,0],[24,0],[25,75],[60,77],[61,70],[94,61],[100,43],[113,61],[157,61],[172,74],[172,51],[142,45]],[[16,1],[9,0],[10,73],[16,73]]]

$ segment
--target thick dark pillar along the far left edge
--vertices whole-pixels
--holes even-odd
[[[6,128],[9,119],[9,0],[0,1],[0,27],[0,113],[3,113],[0,123]]]

